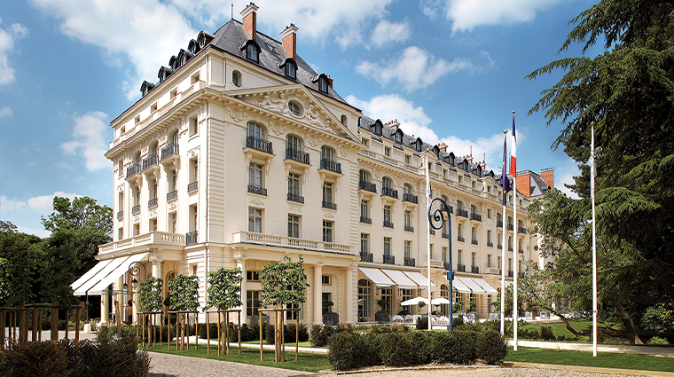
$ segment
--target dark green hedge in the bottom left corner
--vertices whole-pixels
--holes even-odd
[[[150,358],[134,338],[116,342],[21,342],[0,351],[0,375],[147,377]]]

